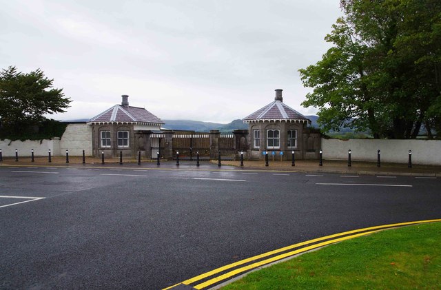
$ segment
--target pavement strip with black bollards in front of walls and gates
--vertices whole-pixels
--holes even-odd
[[[69,156],[69,163],[66,163],[65,156],[52,157],[52,162],[48,163],[47,157],[35,157],[34,162],[31,161],[30,156],[23,156],[19,161],[15,161],[14,157],[3,158],[0,161],[0,166],[121,166],[119,158],[105,158],[105,163],[102,163],[101,158],[86,157],[85,164],[81,156]],[[218,160],[202,161],[201,165],[217,165]],[[241,169],[258,170],[258,171],[287,171],[287,172],[329,172],[338,174],[368,174],[368,175],[394,175],[394,176],[427,176],[440,177],[441,165],[417,165],[412,164],[411,167],[406,164],[399,163],[381,163],[380,167],[374,162],[362,162],[353,160],[351,166],[348,166],[347,160],[322,160],[322,166],[319,165],[318,160],[296,160],[295,166],[292,166],[291,161],[271,161],[265,166],[265,161],[245,160],[244,166],[240,167],[240,161],[222,160],[222,165],[229,165]],[[135,158],[123,160],[125,166],[138,167],[158,167],[156,160],[141,160],[141,165],[137,164]],[[161,160],[161,165],[164,168],[177,168],[176,160]],[[181,167],[196,167],[196,160],[188,161],[181,160]]]

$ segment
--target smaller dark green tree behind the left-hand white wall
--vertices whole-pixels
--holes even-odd
[[[71,102],[40,69],[23,74],[10,66],[0,73],[0,123],[3,133],[20,133],[48,120],[43,114],[65,112]]]

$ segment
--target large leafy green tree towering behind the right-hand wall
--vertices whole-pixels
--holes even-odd
[[[345,13],[325,38],[322,60],[299,70],[305,106],[325,130],[369,130],[375,138],[440,135],[441,1],[341,0]]]

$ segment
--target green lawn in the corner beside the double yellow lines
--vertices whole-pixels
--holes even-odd
[[[441,222],[346,240],[223,289],[441,289]]]

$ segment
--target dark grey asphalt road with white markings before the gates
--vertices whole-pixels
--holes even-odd
[[[440,218],[440,186],[216,165],[0,167],[0,289],[161,289],[296,242]]]

